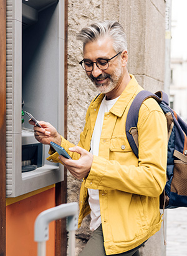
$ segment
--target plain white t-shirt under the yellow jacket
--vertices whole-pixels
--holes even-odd
[[[102,103],[98,110],[97,119],[95,122],[95,127],[93,129],[92,140],[90,144],[90,153],[92,153],[93,155],[98,155],[100,135],[102,132],[103,119],[104,119],[105,112],[110,111],[110,109],[113,107],[115,102],[117,102],[118,98],[119,97],[112,99],[110,101],[106,101],[106,96],[105,96],[102,100]],[[88,192],[89,192],[89,205],[91,209],[90,230],[95,230],[101,224],[98,189],[88,189]]]

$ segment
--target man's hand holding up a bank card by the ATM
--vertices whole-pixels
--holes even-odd
[[[29,124],[34,126],[34,136],[42,144],[50,144],[51,141],[59,145],[61,144],[60,134],[49,122],[39,121],[42,128],[36,126],[31,119],[29,120]]]

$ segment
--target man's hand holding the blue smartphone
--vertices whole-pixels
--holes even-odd
[[[69,150],[79,153],[79,160],[66,159],[62,155],[59,155],[60,161],[65,165],[65,167],[75,178],[82,179],[84,177],[87,177],[92,166],[93,155],[79,146],[70,147]]]

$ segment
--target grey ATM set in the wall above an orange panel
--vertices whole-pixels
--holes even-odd
[[[64,180],[29,117],[64,134],[64,0],[7,1],[7,197]],[[22,118],[24,122],[22,123]]]

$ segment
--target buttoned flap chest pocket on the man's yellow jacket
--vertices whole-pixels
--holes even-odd
[[[110,140],[110,160],[123,162],[130,154],[132,149],[126,137],[113,137]]]

